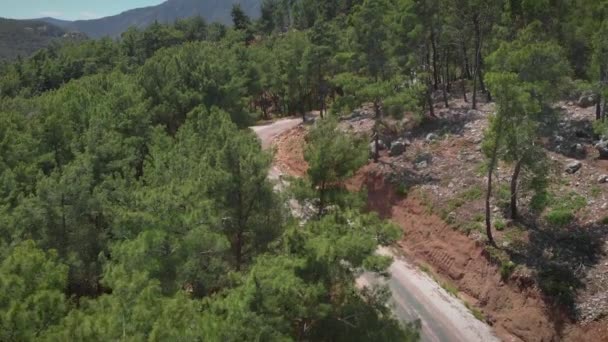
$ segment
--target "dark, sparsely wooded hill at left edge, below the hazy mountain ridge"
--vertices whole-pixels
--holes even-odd
[[[65,34],[64,29],[40,20],[0,18],[0,60],[27,57]]]

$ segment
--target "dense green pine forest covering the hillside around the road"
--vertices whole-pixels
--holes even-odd
[[[231,18],[0,65],[0,341],[417,340],[386,288],[355,282],[385,272],[377,246],[402,238],[343,186],[370,142],[379,160],[387,119],[439,120],[457,89],[472,109],[495,101],[488,246],[499,165],[543,199],[537,141],[556,101],[593,106],[588,133],[608,135],[603,0],[265,0],[259,19],[240,6]],[[370,141],[336,129],[361,106]],[[311,110],[323,119],[289,195],[315,214],[299,222],[248,127]],[[571,304],[559,277],[548,286]]]

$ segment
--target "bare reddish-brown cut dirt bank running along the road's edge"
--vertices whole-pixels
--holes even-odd
[[[276,166],[286,174],[306,172],[304,137],[305,128],[296,127],[275,141]],[[502,340],[608,341],[608,320],[577,325],[548,304],[530,275],[516,272],[503,281],[481,243],[429,213],[419,194],[399,196],[381,169],[382,164],[364,167],[348,187],[366,188],[369,209],[403,228],[399,245],[407,259],[429,269],[438,281],[455,286],[461,298],[481,309]]]

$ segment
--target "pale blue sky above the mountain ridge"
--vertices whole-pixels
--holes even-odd
[[[94,19],[161,2],[164,0],[0,0],[0,17]]]

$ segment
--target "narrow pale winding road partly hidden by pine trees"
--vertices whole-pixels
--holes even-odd
[[[262,147],[268,148],[277,136],[301,122],[301,119],[283,119],[251,129],[260,138]],[[279,180],[280,176],[281,171],[273,167],[269,177]],[[427,274],[388,248],[381,248],[378,253],[391,255],[395,260],[389,268],[390,278],[386,280],[367,273],[358,279],[358,283],[362,286],[387,283],[393,295],[395,314],[403,322],[420,320],[422,341],[499,341],[487,324],[477,320],[462,301],[450,295]]]

